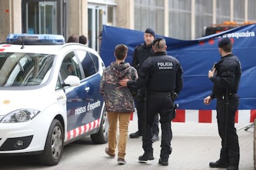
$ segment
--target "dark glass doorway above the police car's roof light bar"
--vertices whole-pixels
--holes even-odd
[[[63,6],[63,0],[23,0],[22,33],[64,35]]]

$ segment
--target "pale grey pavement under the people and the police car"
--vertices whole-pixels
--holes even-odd
[[[246,124],[236,124],[243,127]],[[127,139],[125,165],[118,165],[117,158],[105,154],[107,144],[95,145],[90,137],[66,145],[62,159],[56,166],[40,166],[33,156],[0,157],[0,169],[218,169],[209,168],[210,161],[218,160],[220,137],[216,123],[173,123],[173,153],[169,166],[158,164],[161,142],[153,144],[155,160],[139,163],[143,154],[142,140]],[[130,121],[129,133],[137,130],[137,121]],[[241,150],[240,170],[254,169],[254,128],[237,131]],[[160,136],[161,137],[161,136]]]

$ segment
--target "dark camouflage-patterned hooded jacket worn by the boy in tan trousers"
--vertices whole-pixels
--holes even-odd
[[[106,111],[134,111],[134,97],[128,87],[121,87],[121,79],[137,79],[138,74],[129,63],[112,62],[104,71],[100,82],[100,92],[104,96]]]

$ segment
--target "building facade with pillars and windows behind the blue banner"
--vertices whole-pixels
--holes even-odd
[[[255,8],[255,0],[1,0],[0,41],[9,33],[84,34],[99,51],[103,25],[195,39],[205,26],[254,22]]]

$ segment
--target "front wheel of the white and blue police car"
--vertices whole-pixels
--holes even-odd
[[[49,127],[45,142],[45,150],[38,155],[41,164],[53,166],[59,163],[63,153],[64,133],[62,124],[58,119],[54,119]]]

